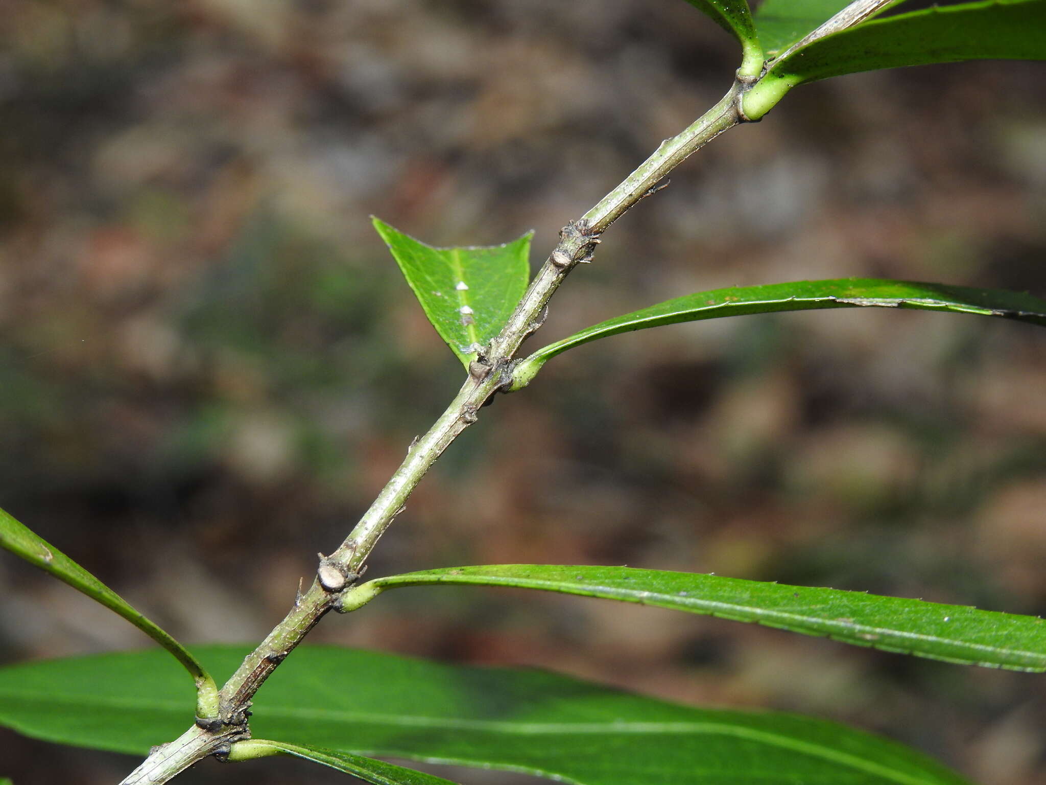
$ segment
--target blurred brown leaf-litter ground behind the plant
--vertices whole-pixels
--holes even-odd
[[[0,8],[0,503],[191,643],[264,636],[461,381],[368,216],[436,245],[537,229],[538,263],[738,62],[681,0]],[[1043,68],[795,90],[615,225],[532,345],[731,285],[1046,296]],[[750,316],[551,361],[448,451],[370,573],[629,564],[1039,614],[1044,517],[1046,333]],[[147,644],[10,555],[0,598],[0,664]],[[1042,676],[477,588],[393,592],[310,641],[813,713],[984,785],[1046,783]],[[0,730],[18,785],[135,764]],[[344,778],[207,762],[184,781]]]

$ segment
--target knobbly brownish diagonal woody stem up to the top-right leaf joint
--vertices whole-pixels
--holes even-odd
[[[177,742],[157,748],[121,785],[163,783],[194,762],[227,748],[230,740],[249,738],[251,699],[269,674],[319,620],[340,607],[341,590],[359,578],[379,538],[445,449],[469,425],[480,407],[511,384],[514,357],[523,341],[544,321],[549,298],[577,264],[591,261],[599,236],[687,156],[727,129],[744,121],[740,96],[747,84],[737,81],[729,92],[693,125],[666,139],[657,151],[577,222],[560,232],[560,242],[530,283],[508,322],[470,367],[469,377],[432,428],[411,445],[407,457],[344,542],[321,557],[318,577],[264,642],[247,656],[222,688],[220,731],[189,728]],[[351,608],[355,610],[355,607]]]

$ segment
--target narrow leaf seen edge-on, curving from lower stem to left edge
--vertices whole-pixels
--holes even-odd
[[[202,719],[218,717],[218,687],[214,685],[214,679],[184,646],[131,607],[109,586],[3,510],[0,510],[0,547],[22,557],[95,602],[101,603],[169,651],[196,682],[197,716]]]

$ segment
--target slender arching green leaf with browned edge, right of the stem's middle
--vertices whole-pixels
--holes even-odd
[[[1022,292],[999,289],[877,278],[798,281],[792,284],[733,287],[665,300],[641,311],[593,324],[539,349],[516,367],[511,388],[519,389],[529,384],[549,358],[582,343],[619,333],[723,316],[868,307],[1000,316],[1046,326],[1046,300]]]

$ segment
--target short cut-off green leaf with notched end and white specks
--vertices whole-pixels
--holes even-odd
[[[373,222],[429,321],[469,367],[526,291],[533,232],[504,245],[433,248],[377,218]]]

